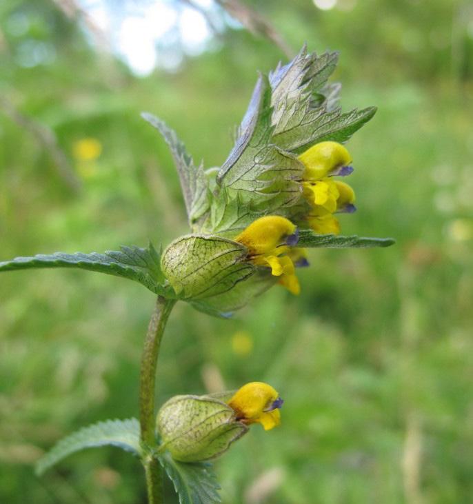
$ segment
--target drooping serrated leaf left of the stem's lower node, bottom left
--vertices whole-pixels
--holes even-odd
[[[41,457],[36,464],[35,472],[41,475],[72,453],[105,445],[117,446],[139,456],[141,454],[139,421],[137,419],[107,420],[83,427],[61,439],[52,450]]]

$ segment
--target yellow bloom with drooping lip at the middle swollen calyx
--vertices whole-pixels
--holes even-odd
[[[253,264],[271,268],[271,274],[280,277],[280,285],[292,294],[299,294],[301,288],[291,252],[297,239],[296,225],[289,219],[267,215],[252,222],[235,241],[248,248],[249,259]]]

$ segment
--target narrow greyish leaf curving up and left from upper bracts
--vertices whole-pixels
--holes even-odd
[[[181,181],[189,223],[193,225],[199,217],[207,212],[210,205],[210,193],[203,165],[194,165],[192,157],[185,150],[184,143],[164,121],[148,112],[143,112],[141,117],[156,128],[168,143]]]

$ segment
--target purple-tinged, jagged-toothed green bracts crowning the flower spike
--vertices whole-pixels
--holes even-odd
[[[376,108],[342,113],[339,83],[328,83],[337,52],[308,54],[305,47],[288,65],[262,74],[239,126],[234,148],[208,176],[163,121],[145,113],[170,146],[189,223],[194,232],[234,236],[255,219],[279,214],[290,220],[308,210],[297,156],[322,141],[345,142]]]

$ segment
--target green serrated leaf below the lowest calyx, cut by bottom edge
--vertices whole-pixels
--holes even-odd
[[[220,485],[210,463],[175,461],[169,452],[158,456],[179,495],[180,504],[216,504],[221,502]]]

